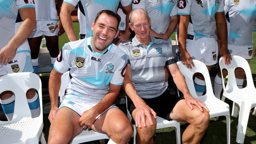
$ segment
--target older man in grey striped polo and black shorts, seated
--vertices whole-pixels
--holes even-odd
[[[130,28],[135,31],[132,41],[119,47],[128,57],[123,88],[129,97],[128,109],[137,126],[137,143],[154,144],[156,115],[188,122],[183,143],[198,144],[209,123],[209,110],[191,96],[168,43],[149,35],[150,18],[144,9],[130,14]],[[170,95],[165,82],[164,67],[168,66],[184,98]]]

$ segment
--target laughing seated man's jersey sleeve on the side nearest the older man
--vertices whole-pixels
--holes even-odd
[[[122,85],[124,81],[124,75],[127,68],[127,57],[126,54],[120,56],[120,63],[117,66],[117,70],[115,70],[110,83],[113,85]]]

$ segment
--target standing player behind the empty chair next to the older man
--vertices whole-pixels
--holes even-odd
[[[195,40],[186,43],[189,16],[193,24]],[[211,65],[217,63],[216,28],[221,41],[220,54],[224,56],[225,64],[230,63],[231,56],[227,49],[224,0],[179,0],[178,20],[180,60],[187,68],[194,66],[193,59],[202,61],[209,71],[211,70]],[[202,75],[197,74],[194,85],[197,95],[202,96],[206,87]]]

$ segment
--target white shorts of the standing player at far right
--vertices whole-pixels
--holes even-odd
[[[230,55],[238,55],[245,59],[252,59],[253,46],[235,46],[228,44],[228,51]]]

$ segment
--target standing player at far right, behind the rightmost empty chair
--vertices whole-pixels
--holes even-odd
[[[252,30],[256,22],[255,0],[225,0],[225,15],[228,25],[228,50],[231,55],[245,58],[248,63],[253,55]],[[225,78],[227,71],[223,71]],[[243,86],[245,72],[242,68],[235,70],[237,87]],[[221,72],[217,74],[214,81],[214,93],[220,99],[222,90]]]

